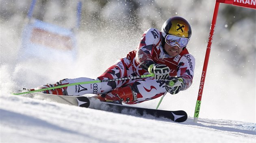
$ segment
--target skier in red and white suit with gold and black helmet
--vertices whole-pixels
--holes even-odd
[[[136,50],[119,59],[96,80],[125,78],[154,73],[154,77],[131,80],[80,84],[46,90],[55,95],[96,94],[100,101],[136,104],[155,99],[164,94],[177,94],[191,86],[195,58],[186,46],[191,37],[191,27],[182,17],[171,17],[163,23],[161,32],[150,28],[144,32]],[[46,84],[31,90],[52,86],[92,81],[91,78],[64,79],[56,84]],[[170,86],[172,81],[174,85]]]

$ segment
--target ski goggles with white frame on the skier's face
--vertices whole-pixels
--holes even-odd
[[[189,38],[167,35],[165,37],[165,42],[170,46],[178,46],[180,48],[184,48],[189,43]]]

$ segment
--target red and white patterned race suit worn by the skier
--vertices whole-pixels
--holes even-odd
[[[169,76],[181,77],[184,85],[181,90],[186,90],[191,86],[195,68],[195,58],[189,54],[187,48],[176,57],[170,57],[163,49],[161,43],[161,32],[150,28],[144,32],[136,50],[131,51],[124,58],[119,59],[109,67],[96,80],[107,80],[114,78],[124,78],[130,76],[149,74],[146,69],[147,62],[165,64],[169,67]],[[90,78],[65,79],[61,84],[91,81]],[[81,84],[63,88],[61,95],[84,95],[84,94],[105,94],[116,88],[130,86],[134,95],[134,101],[128,104],[141,103],[143,101],[155,99],[165,94],[165,81],[155,80],[154,77],[132,80],[119,80],[111,82],[100,82],[95,84]],[[65,90],[65,91],[64,91]],[[53,93],[53,92],[51,92]],[[54,94],[54,93],[53,93]]]

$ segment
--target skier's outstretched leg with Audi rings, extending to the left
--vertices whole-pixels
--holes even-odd
[[[126,61],[127,63],[127,61]],[[124,59],[118,60],[114,65],[109,67],[97,80],[108,80],[114,78],[122,78],[127,76],[127,68],[125,67]],[[75,79],[64,79],[56,82],[55,84],[46,84],[43,86],[39,86],[37,88],[33,88],[30,90],[37,90],[42,88],[49,88],[53,86],[72,84],[76,82],[87,82],[93,81],[91,78],[75,78]],[[54,94],[54,95],[71,95],[78,96],[84,94],[104,94],[107,93],[117,87],[121,87],[126,84],[128,80],[119,80],[112,82],[98,82],[94,84],[80,84],[74,86],[67,86],[63,88],[56,88],[52,90],[43,91],[43,93]]]

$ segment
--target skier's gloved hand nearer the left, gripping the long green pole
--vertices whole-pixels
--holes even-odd
[[[152,64],[148,67],[150,74],[155,75],[156,80],[166,80],[169,78],[170,69],[165,64]]]

